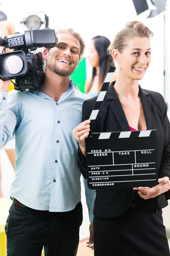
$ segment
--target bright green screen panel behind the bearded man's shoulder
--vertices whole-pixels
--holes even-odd
[[[77,70],[71,75],[71,80],[77,84],[79,90],[84,93],[85,92],[85,79],[86,79],[86,72],[85,72],[85,58],[79,62]]]

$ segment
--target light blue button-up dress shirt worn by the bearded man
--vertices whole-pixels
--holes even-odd
[[[16,144],[11,197],[37,210],[67,212],[76,207],[81,174],[72,130],[82,122],[86,99],[72,81],[58,102],[39,91],[0,93],[0,148],[14,135]],[[93,205],[88,210],[93,221]]]

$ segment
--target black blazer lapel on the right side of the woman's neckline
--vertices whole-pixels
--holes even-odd
[[[139,85],[139,96],[142,102],[142,108],[144,111],[147,130],[151,130],[152,129],[151,99],[150,99],[149,93],[143,90],[140,87],[140,85]]]

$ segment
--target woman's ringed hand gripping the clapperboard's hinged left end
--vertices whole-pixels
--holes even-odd
[[[85,120],[74,128],[73,137],[79,143],[79,147],[82,151],[82,154],[85,156],[85,138],[88,137],[90,131],[90,122],[91,120]]]

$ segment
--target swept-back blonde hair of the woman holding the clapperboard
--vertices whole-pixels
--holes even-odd
[[[124,29],[121,29],[116,34],[114,41],[108,47],[108,53],[111,55],[111,57],[114,49],[122,53],[127,47],[130,39],[135,36],[147,37],[150,39],[153,37],[153,32],[140,21],[130,21],[126,23]]]

